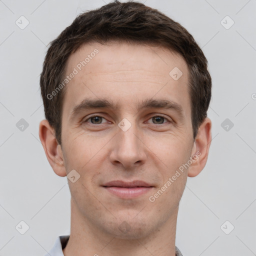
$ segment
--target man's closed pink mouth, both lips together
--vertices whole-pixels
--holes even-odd
[[[154,186],[142,180],[131,182],[113,180],[102,185],[109,193],[120,198],[135,198],[149,192]]]

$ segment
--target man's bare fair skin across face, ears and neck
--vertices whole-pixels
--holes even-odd
[[[75,169],[72,183],[71,230],[65,256],[175,255],[179,200],[187,176],[205,166],[211,141],[211,121],[200,125],[193,140],[188,67],[184,59],[162,47],[112,42],[85,44],[67,61],[66,74],[95,48],[99,53],[66,85],[62,111],[62,144],[47,120],[39,137],[47,159],[59,176]],[[178,80],[169,72],[178,67]],[[88,109],[71,118],[84,98],[107,98],[117,109]],[[184,118],[173,109],[136,109],[144,99],[171,99],[182,106]],[[88,119],[93,114],[102,119]],[[154,119],[154,116],[165,119]],[[123,131],[118,123],[131,126]],[[200,156],[155,201],[149,201],[190,156]],[[123,199],[101,185],[111,180],[143,180],[153,187],[136,198]],[[125,221],[125,222],[123,222]],[[125,223],[125,224],[124,224]],[[125,225],[127,230],[118,227]]]

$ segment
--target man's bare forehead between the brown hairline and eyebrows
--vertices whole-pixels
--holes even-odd
[[[163,97],[190,114],[186,62],[163,47],[84,44],[69,56],[65,74],[72,78],[65,85],[63,114],[70,115],[84,98],[108,98],[120,108],[132,108],[140,100]]]

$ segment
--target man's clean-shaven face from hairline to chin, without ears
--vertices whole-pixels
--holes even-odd
[[[146,236],[176,214],[186,182],[176,171],[193,148],[187,65],[161,47],[93,43],[69,57],[74,68],[61,130],[66,174],[80,175],[68,180],[71,210],[102,232]]]

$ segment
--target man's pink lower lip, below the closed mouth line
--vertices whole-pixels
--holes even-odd
[[[145,194],[152,189],[151,186],[145,187],[120,187],[120,186],[107,186],[106,190],[112,194],[121,198],[134,198],[139,195]]]

